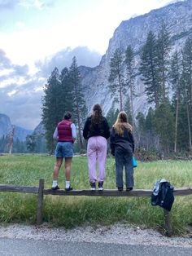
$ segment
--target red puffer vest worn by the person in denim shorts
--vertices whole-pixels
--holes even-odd
[[[73,143],[71,124],[72,124],[72,121],[69,121],[69,120],[63,120],[59,122],[57,126],[58,136],[59,136],[58,141],[60,142],[69,141]]]

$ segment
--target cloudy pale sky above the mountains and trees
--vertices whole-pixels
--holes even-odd
[[[122,20],[170,0],[0,0],[0,113],[33,130],[55,66],[94,67]]]

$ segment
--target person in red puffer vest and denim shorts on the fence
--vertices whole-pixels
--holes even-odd
[[[67,112],[64,114],[63,121],[60,121],[57,125],[53,138],[57,139],[58,142],[55,149],[56,162],[53,173],[52,190],[59,189],[57,179],[64,158],[66,183],[65,190],[70,191],[72,190],[72,187],[70,185],[70,174],[73,157],[73,143],[76,140],[76,126],[74,125],[74,123],[72,123],[71,113]]]

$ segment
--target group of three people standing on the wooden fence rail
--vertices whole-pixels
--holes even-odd
[[[87,157],[89,168],[89,183],[91,190],[103,190],[105,180],[105,165],[107,159],[107,139],[110,137],[111,154],[116,158],[116,188],[123,191],[123,170],[125,169],[126,190],[133,189],[133,129],[129,124],[126,113],[120,112],[117,120],[110,128],[107,119],[103,117],[102,108],[95,104],[90,117],[87,117],[83,129],[83,136],[88,140]],[[76,126],[72,123],[72,114],[65,113],[63,121],[57,125],[54,138],[58,140],[55,149],[55,168],[53,172],[52,189],[59,189],[57,179],[59,170],[65,161],[65,190],[72,190],[70,184],[71,164],[73,157],[73,143],[76,139]],[[97,174],[98,167],[98,174]]]

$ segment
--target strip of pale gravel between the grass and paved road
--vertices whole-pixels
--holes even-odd
[[[49,227],[47,224],[27,226],[11,224],[0,226],[0,237],[46,241],[102,242],[120,245],[164,245],[192,248],[192,236],[166,237],[152,229],[116,224],[108,227]]]

